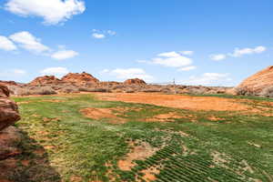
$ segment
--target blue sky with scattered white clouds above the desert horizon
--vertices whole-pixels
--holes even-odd
[[[86,71],[235,86],[273,65],[273,1],[5,0],[0,80]]]

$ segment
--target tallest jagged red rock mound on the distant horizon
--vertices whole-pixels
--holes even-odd
[[[66,76],[64,76],[62,78],[62,81],[66,82],[66,83],[72,83],[75,84],[77,86],[84,86],[87,84],[97,84],[99,83],[99,80],[96,79],[96,77],[87,74],[86,72],[83,72],[82,74],[73,74],[73,73],[69,73]]]

